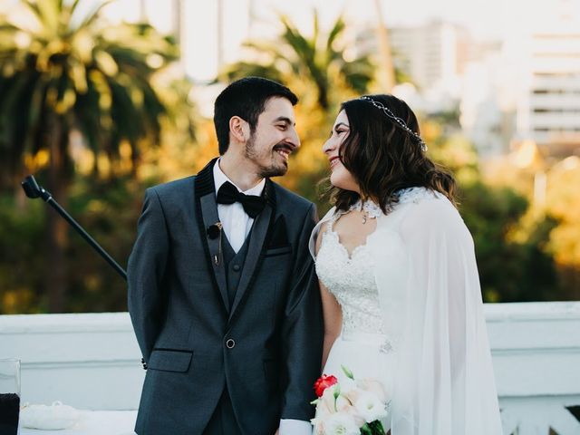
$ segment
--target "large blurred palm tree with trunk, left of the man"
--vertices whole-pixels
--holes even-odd
[[[48,189],[66,204],[73,178],[71,133],[95,155],[119,157],[122,143],[156,143],[166,112],[150,79],[177,46],[149,24],[107,26],[80,0],[22,0],[24,23],[0,20],[0,161],[21,176],[24,159],[48,153]],[[52,312],[66,293],[65,222],[48,215],[46,295]]]

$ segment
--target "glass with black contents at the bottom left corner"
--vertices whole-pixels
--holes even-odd
[[[20,413],[20,360],[0,359],[0,434],[18,433]]]

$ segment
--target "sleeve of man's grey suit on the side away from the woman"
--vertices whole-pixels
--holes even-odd
[[[147,189],[127,267],[129,314],[145,362],[160,332],[168,255],[169,236],[160,198],[155,189]]]

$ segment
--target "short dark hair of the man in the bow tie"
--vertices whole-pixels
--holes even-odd
[[[256,131],[257,119],[272,97],[287,99],[294,106],[298,97],[285,85],[263,77],[246,77],[232,82],[224,89],[214,104],[214,125],[218,135],[219,154],[224,154],[229,146],[229,120],[239,116]]]

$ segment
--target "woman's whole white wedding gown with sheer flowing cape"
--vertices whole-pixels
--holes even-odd
[[[357,204],[354,207],[361,207]],[[349,256],[333,231],[334,209],[315,256],[320,281],[343,313],[342,333],[324,374],[382,381],[391,399],[391,435],[499,435],[497,391],[473,242],[447,198],[423,188],[401,191],[377,218],[367,242]]]

